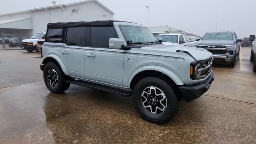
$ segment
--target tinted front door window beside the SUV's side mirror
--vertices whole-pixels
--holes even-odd
[[[108,48],[110,38],[118,38],[113,26],[91,28],[91,47]]]

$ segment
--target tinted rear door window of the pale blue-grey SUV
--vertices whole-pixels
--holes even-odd
[[[73,46],[85,46],[86,27],[68,28],[66,44]]]

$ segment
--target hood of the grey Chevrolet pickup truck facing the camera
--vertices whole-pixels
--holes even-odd
[[[200,40],[196,44],[207,46],[224,46],[234,44],[233,40]]]

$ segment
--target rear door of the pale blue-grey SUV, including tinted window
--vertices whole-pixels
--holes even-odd
[[[86,27],[70,27],[66,30],[66,43],[60,49],[60,58],[70,76],[85,78],[85,38]]]

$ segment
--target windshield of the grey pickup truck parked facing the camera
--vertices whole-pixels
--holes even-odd
[[[233,40],[233,35],[231,32],[207,33],[202,40]]]

